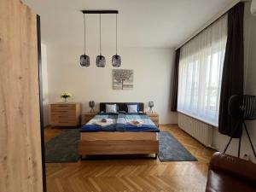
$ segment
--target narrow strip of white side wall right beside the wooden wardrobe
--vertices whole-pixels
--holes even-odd
[[[49,98],[48,98],[48,68],[47,68],[47,47],[41,44],[42,78],[43,78],[43,108],[44,126],[49,125]]]

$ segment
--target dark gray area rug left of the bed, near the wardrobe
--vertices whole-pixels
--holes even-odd
[[[79,160],[79,129],[67,129],[45,143],[45,162],[76,162]]]

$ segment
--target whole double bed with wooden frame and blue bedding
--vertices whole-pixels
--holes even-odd
[[[117,104],[122,113],[104,113],[106,104]],[[125,113],[127,105],[131,104],[137,104],[141,113]],[[154,158],[157,158],[159,129],[143,109],[141,102],[101,102],[100,113],[80,129],[81,158],[98,154],[155,154]],[[102,118],[113,119],[113,124],[104,127],[94,125],[94,121]],[[141,119],[144,123],[139,126],[128,124],[132,119]]]

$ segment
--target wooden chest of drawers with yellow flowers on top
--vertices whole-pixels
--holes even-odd
[[[52,126],[80,125],[81,103],[59,102],[50,105]]]

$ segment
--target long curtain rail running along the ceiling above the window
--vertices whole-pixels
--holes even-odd
[[[195,38],[196,35],[204,31],[208,26],[211,26],[214,21],[218,20],[220,17],[225,15],[231,8],[233,8],[237,3],[240,3],[240,2],[251,2],[251,0],[234,0],[217,15],[214,15],[211,20],[208,20],[207,23],[201,26],[199,30],[193,32],[192,35],[189,36],[189,38],[187,38],[182,44],[179,44],[175,50],[181,48],[184,44],[187,44],[192,38]]]

